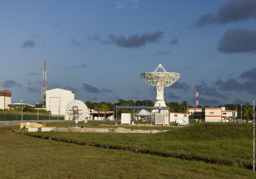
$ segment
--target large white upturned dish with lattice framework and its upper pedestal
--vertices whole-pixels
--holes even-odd
[[[163,69],[164,72],[158,72]],[[175,83],[180,73],[166,72],[164,67],[159,64],[154,72],[140,73],[141,78],[150,86],[156,87],[156,100],[164,100],[164,87],[169,87]]]

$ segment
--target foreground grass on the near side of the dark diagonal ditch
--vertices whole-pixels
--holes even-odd
[[[253,178],[253,171],[3,132],[0,178]]]

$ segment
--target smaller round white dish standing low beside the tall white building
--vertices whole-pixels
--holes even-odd
[[[83,121],[89,116],[90,111],[86,104],[80,100],[71,100],[67,103],[66,113],[69,119]]]

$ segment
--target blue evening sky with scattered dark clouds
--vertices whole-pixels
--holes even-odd
[[[0,2],[0,89],[40,103],[47,89],[77,100],[152,100],[140,73],[181,73],[165,102],[252,103],[256,98],[255,0],[23,0]]]

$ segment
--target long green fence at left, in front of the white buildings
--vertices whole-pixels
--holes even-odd
[[[47,115],[23,115],[22,120],[24,121],[45,121],[45,120],[64,120],[63,116],[47,116]],[[21,121],[21,115],[19,114],[0,114],[0,121]]]

